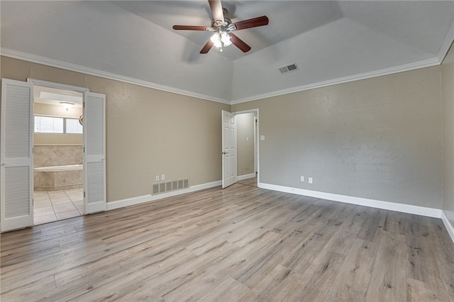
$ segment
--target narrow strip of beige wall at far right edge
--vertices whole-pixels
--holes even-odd
[[[441,64],[443,99],[443,211],[454,227],[454,46]]]

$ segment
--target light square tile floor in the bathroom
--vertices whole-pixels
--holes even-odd
[[[34,224],[81,216],[84,213],[82,188],[63,191],[34,191]]]

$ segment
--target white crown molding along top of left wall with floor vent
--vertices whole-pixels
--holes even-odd
[[[217,103],[228,104],[230,105],[231,102],[226,99],[219,99],[214,96],[208,96],[206,94],[198,94],[193,91],[187,91],[184,89],[177,89],[170,86],[160,85],[153,82],[143,81],[141,79],[135,79],[133,77],[124,77],[120,74],[114,74],[111,72],[104,72],[99,69],[93,69],[89,67],[85,67],[82,65],[76,65],[68,62],[63,62],[59,60],[53,60],[48,57],[41,57],[39,55],[31,55],[27,52],[20,52],[16,50],[11,50],[8,48],[1,47],[0,48],[0,55],[4,57],[11,57],[13,59],[24,60],[28,62],[33,62],[41,65],[47,65],[50,67],[61,68],[70,70],[72,72],[80,72],[82,74],[89,74],[95,77],[103,77],[106,79],[113,79],[115,81],[125,82],[128,84],[134,84],[138,86],[148,87],[152,89],[157,89],[161,91],[172,92],[174,94],[181,94],[183,96],[191,96],[197,99],[204,99],[207,101],[215,101]]]

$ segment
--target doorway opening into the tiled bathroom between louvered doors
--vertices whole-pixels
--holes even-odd
[[[33,224],[84,215],[83,94],[33,85]]]

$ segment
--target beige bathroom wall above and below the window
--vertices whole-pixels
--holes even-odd
[[[34,104],[34,113],[47,116],[61,116],[64,118],[79,118],[82,115],[82,107],[65,108],[52,104]],[[59,134],[59,133],[34,133],[34,145],[82,145],[82,134]]]

